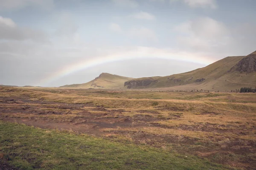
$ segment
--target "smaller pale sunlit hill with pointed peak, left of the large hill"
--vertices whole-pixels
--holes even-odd
[[[122,77],[115,74],[102,73],[90,82],[83,84],[64,85],[60,88],[102,88],[120,89],[124,88],[125,81],[131,80],[130,77]]]

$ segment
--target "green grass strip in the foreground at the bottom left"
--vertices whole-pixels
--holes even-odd
[[[190,155],[121,144],[87,135],[0,122],[0,153],[20,169],[221,170],[219,164]]]

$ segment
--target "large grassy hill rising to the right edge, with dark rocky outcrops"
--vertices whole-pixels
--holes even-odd
[[[220,90],[256,87],[256,51],[248,56],[226,57],[204,68],[166,77],[143,77],[125,82],[125,88],[163,90]]]

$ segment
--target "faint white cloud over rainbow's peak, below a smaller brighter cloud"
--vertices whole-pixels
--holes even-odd
[[[149,28],[145,28],[145,27],[131,28],[129,33],[133,37],[138,37],[140,39],[145,39],[145,40],[157,41],[157,35],[153,30]]]

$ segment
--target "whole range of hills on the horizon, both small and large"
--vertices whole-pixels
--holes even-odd
[[[90,82],[60,88],[235,91],[241,87],[256,87],[256,51],[248,56],[226,57],[181,74],[133,79],[102,73]]]

